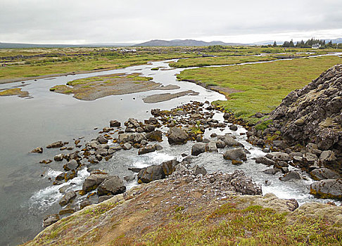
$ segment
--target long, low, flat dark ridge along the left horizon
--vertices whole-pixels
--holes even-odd
[[[19,44],[19,43],[1,43],[0,48],[68,48],[68,47],[127,47],[132,43],[113,43],[113,44]]]

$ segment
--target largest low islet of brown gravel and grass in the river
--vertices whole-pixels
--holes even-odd
[[[74,94],[74,98],[93,101],[105,96],[151,91],[160,86],[160,83],[151,81],[151,77],[139,75],[141,74],[113,74],[76,79],[66,85],[53,86],[50,91]]]

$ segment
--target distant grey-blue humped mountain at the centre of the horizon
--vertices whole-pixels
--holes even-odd
[[[210,45],[246,45],[239,43],[224,43],[222,41],[198,41],[194,39],[174,39],[174,40],[160,40],[154,39],[141,44],[134,44],[134,46],[210,46]]]

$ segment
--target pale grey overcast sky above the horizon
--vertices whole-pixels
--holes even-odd
[[[0,42],[342,37],[341,0],[0,0]]]

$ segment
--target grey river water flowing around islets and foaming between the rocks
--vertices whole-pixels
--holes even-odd
[[[178,105],[190,101],[216,101],[225,100],[224,96],[215,91],[210,91],[189,82],[178,82],[175,75],[184,69],[172,69],[168,66],[170,61],[153,62],[148,65],[127,67],[120,70],[108,70],[84,75],[69,75],[48,79],[28,80],[24,83],[0,84],[1,89],[9,89],[23,86],[23,91],[28,91],[30,98],[17,96],[0,97],[0,245],[18,245],[30,240],[39,231],[42,231],[42,218],[46,214],[54,214],[61,209],[58,200],[62,195],[58,188],[64,186],[52,186],[56,175],[63,170],[63,164],[52,162],[49,165],[39,164],[39,161],[51,159],[61,153],[60,150],[47,150],[42,154],[29,153],[37,146],[46,146],[55,141],[69,141],[80,138],[82,143],[98,136],[98,129],[108,127],[110,119],[125,122],[129,117],[144,121],[151,117],[152,108],[169,110]],[[151,70],[160,67],[160,70]],[[84,77],[98,75],[110,75],[113,73],[141,72],[143,76],[153,77],[154,82],[164,86],[175,84],[180,89],[172,91],[147,91],[119,96],[108,96],[96,101],[80,101],[71,95],[63,95],[49,91],[52,86],[66,84],[67,82]],[[161,103],[144,103],[142,98],[156,93],[177,93],[179,91],[193,90],[198,96],[183,96]],[[216,119],[223,121],[222,113],[217,112]],[[194,164],[201,164],[208,171],[234,171],[241,169],[253,180],[262,184],[263,193],[274,193],[280,198],[296,198],[300,204],[308,201],[320,201],[309,195],[312,180],[303,174],[300,181],[281,182],[279,175],[268,176],[262,171],[267,169],[263,164],[256,164],[251,158],[262,153],[257,148],[246,142],[246,132],[239,127],[238,131],[224,131],[213,129],[205,131],[205,136],[211,133],[224,134],[231,132],[236,140],[245,145],[251,152],[248,161],[241,166],[233,166],[222,158],[219,153],[203,153],[194,158]],[[137,155],[137,150],[119,151],[113,158],[101,162],[99,168],[105,169],[109,174],[125,176],[132,174],[127,167],[146,167],[151,164],[171,160],[180,157],[182,153],[191,153],[191,146],[170,146],[167,141],[161,145],[163,150],[146,155]],[[66,185],[76,190],[82,187],[82,181],[89,175],[86,169],[79,172],[77,178],[72,179]],[[269,185],[265,185],[268,181]],[[127,187],[137,185],[136,181],[127,183]],[[325,201],[327,202],[327,201]]]

